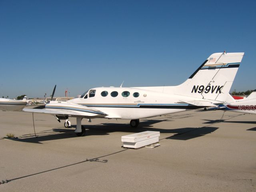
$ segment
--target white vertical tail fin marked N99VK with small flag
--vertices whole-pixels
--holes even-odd
[[[244,53],[214,53],[186,80],[166,92],[225,102]]]

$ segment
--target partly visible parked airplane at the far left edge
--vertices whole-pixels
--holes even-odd
[[[2,111],[22,110],[28,104],[26,102],[26,98],[27,96],[24,96],[23,100],[0,98],[0,110]]]

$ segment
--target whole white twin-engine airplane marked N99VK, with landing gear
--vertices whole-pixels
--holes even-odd
[[[67,102],[53,102],[44,109],[26,109],[55,115],[56,119],[76,118],[76,134],[85,129],[82,118],[116,118],[131,120],[137,127],[139,119],[160,116],[185,110],[218,106],[226,100],[244,53],[214,53],[178,86],[157,87],[100,87],[86,91],[80,98]]]

